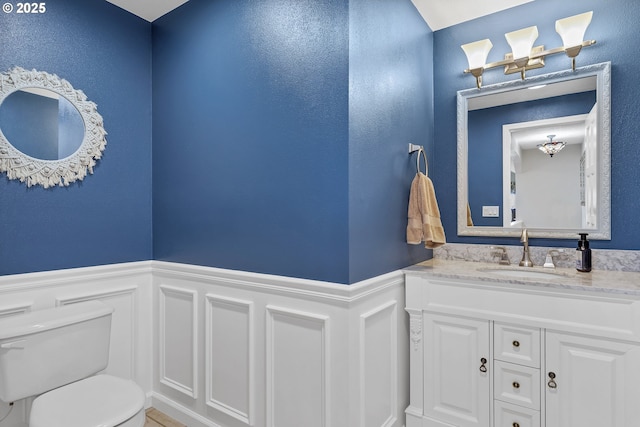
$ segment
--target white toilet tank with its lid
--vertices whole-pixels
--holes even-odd
[[[112,312],[85,301],[0,318],[0,400],[36,396],[106,368]]]

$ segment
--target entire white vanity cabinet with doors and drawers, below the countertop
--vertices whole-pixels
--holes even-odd
[[[640,296],[409,272],[407,427],[640,426]]]

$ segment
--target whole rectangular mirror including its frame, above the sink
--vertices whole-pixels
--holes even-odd
[[[610,94],[609,62],[459,91],[458,235],[611,239]]]

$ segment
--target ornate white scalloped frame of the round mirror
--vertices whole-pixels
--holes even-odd
[[[5,172],[9,179],[26,182],[28,187],[68,186],[74,181],[83,180],[87,171],[93,173],[96,160],[102,157],[107,145],[107,132],[96,104],[87,100],[81,90],[74,89],[71,83],[55,74],[15,67],[0,74],[0,105],[10,94],[27,88],[50,90],[66,98],[84,121],[82,143],[68,157],[42,160],[18,150],[0,129],[0,172]]]

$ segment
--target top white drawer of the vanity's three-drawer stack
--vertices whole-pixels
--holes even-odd
[[[540,329],[495,322],[494,359],[540,367]]]

